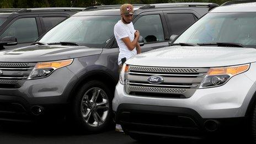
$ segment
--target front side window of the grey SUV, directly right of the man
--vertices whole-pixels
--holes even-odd
[[[164,41],[162,20],[159,14],[143,15],[136,21],[134,28],[140,31],[145,43]]]

